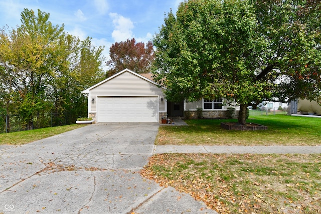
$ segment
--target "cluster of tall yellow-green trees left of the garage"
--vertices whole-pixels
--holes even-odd
[[[21,16],[17,29],[0,31],[1,114],[19,115],[26,128],[34,121],[37,127],[48,126],[52,114],[73,123],[87,112],[81,90],[104,77],[103,47],[66,34],[40,10],[25,9]],[[59,124],[65,122],[53,125]]]

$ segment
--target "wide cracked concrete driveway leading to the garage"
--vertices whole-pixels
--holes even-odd
[[[216,213],[140,176],[158,127],[94,124],[0,146],[0,213]]]

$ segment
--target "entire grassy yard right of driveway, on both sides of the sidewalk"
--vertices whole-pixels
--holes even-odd
[[[224,121],[161,126],[156,144],[321,145],[321,119],[251,112],[265,131],[227,131]],[[157,154],[141,170],[218,213],[321,213],[321,154]]]

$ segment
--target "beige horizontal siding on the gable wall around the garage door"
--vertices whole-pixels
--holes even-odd
[[[163,89],[157,87],[151,82],[148,82],[138,76],[135,76],[129,72],[124,72],[115,78],[108,80],[107,82],[98,85],[90,90],[90,99],[88,100],[91,105],[91,112],[96,111],[97,97],[102,96],[154,96],[158,95],[159,111],[165,111],[165,102],[161,102],[161,98],[164,99]],[[91,99],[94,98],[94,104]]]

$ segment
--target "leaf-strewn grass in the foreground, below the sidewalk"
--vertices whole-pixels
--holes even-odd
[[[141,174],[218,213],[319,213],[319,154],[157,154]]]

